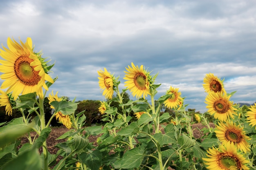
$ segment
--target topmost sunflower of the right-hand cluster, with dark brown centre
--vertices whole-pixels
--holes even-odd
[[[220,78],[212,73],[206,74],[203,81],[205,83],[203,84],[205,92],[209,93],[211,91],[214,91],[215,93],[224,93],[225,89],[223,86],[223,81],[224,79],[220,80]]]

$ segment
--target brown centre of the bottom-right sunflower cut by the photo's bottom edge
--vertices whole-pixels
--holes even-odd
[[[217,158],[218,166],[225,170],[230,170],[232,167],[240,169],[241,165],[239,164],[238,159],[229,153],[223,153]]]

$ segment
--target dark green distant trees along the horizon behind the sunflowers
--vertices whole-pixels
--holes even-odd
[[[68,97],[66,97],[67,100],[69,100]],[[126,104],[128,101],[130,100],[130,96],[128,95],[128,93],[124,92],[123,94],[123,102],[124,104]],[[91,126],[92,124],[104,124],[106,122],[103,122],[101,119],[103,118],[101,113],[99,112],[98,108],[100,105],[100,101],[99,100],[83,100],[83,101],[77,101],[79,104],[77,106],[76,109],[76,114],[82,112],[83,110],[85,110],[84,115],[86,116],[86,126]],[[156,102],[155,102],[156,103]],[[110,106],[112,107],[116,107],[119,113],[122,113],[122,108],[119,107],[119,103],[118,102],[111,102]],[[243,105],[242,107],[240,107],[240,109],[246,113],[249,108],[249,106],[247,105]],[[45,109],[45,121],[48,122],[50,117],[52,116],[52,114],[54,113],[54,110],[52,110],[50,108],[49,105],[49,100],[47,99],[47,97],[45,97],[44,100],[44,109]],[[39,111],[39,110],[38,110]],[[168,112],[173,118],[175,118],[175,112],[174,110],[171,110],[170,108],[166,108],[164,106],[164,104],[162,104],[161,106],[161,113],[166,113]],[[199,111],[195,111],[195,109],[191,109],[189,108],[188,110],[186,110],[186,112],[191,116],[191,121],[195,121],[195,114],[200,114]],[[27,111],[25,110],[25,115],[27,115]],[[133,116],[133,112],[130,114],[132,116],[132,119],[134,121],[136,121],[135,116]],[[5,114],[5,106],[0,107],[0,123],[1,122],[5,122],[5,121],[11,121],[13,118],[16,117],[21,117],[21,113],[16,110],[13,109],[13,114],[12,116],[8,116]],[[31,114],[31,117],[36,117],[36,113]],[[207,117],[207,120],[212,122],[213,121],[213,116],[209,115],[208,113],[205,113],[205,117]],[[170,118],[169,121],[171,121],[172,118]],[[51,126],[63,126],[63,124],[60,124],[56,121],[56,119],[52,119],[51,121]]]

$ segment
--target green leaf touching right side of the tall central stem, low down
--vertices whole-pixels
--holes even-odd
[[[177,143],[175,139],[175,132],[167,132],[165,134],[156,133],[154,138],[158,141],[158,143],[162,146],[165,144],[175,144]]]

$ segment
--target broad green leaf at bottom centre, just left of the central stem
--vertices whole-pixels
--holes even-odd
[[[115,168],[133,169],[139,168],[143,159],[143,152],[139,148],[133,148],[128,150],[122,159],[117,160],[114,163]],[[118,168],[119,169],[119,168]]]

